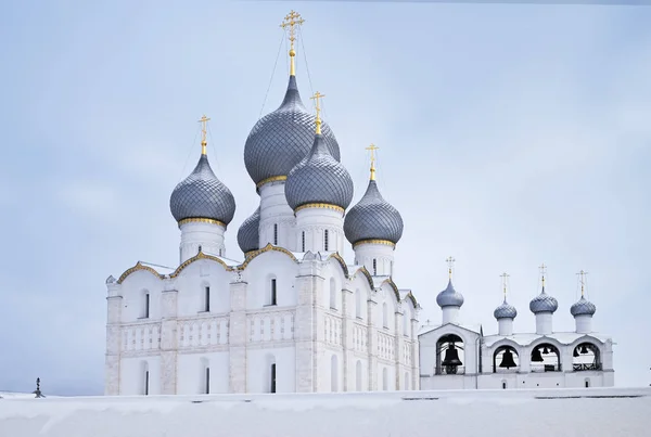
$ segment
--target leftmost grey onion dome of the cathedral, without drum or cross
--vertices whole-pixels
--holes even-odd
[[[177,221],[203,218],[228,224],[235,214],[235,200],[213,172],[208,157],[202,154],[190,176],[174,189],[169,209]]]

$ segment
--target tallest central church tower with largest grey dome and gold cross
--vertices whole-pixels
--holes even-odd
[[[310,152],[316,130],[316,117],[310,114],[298,93],[296,82],[296,29],[304,23],[299,14],[292,11],[281,26],[289,31],[290,80],[284,100],[278,110],[260,118],[251,130],[244,145],[244,164],[260,196],[259,218],[252,216],[246,226],[258,221],[257,247],[271,243],[290,250],[299,250],[296,242],[296,219],[285,198],[288,175]],[[332,157],[340,160],[340,149],[327,124],[321,125],[322,141]],[[244,227],[244,224],[243,224]],[[246,232],[251,235],[250,231]]]

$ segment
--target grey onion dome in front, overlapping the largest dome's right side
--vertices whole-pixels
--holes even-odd
[[[326,138],[314,134],[314,145],[307,159],[288,175],[285,197],[292,209],[301,205],[321,203],[344,209],[353,201],[353,179],[331,154]]]

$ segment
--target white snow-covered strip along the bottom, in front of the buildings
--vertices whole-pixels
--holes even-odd
[[[651,436],[651,388],[0,399],[1,437]]]

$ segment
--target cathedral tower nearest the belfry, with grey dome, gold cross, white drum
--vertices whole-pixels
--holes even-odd
[[[371,144],[371,177],[366,193],[344,220],[346,239],[353,244],[355,264],[373,277],[392,277],[394,250],[403,236],[400,213],[382,197],[375,181],[375,155]]]

